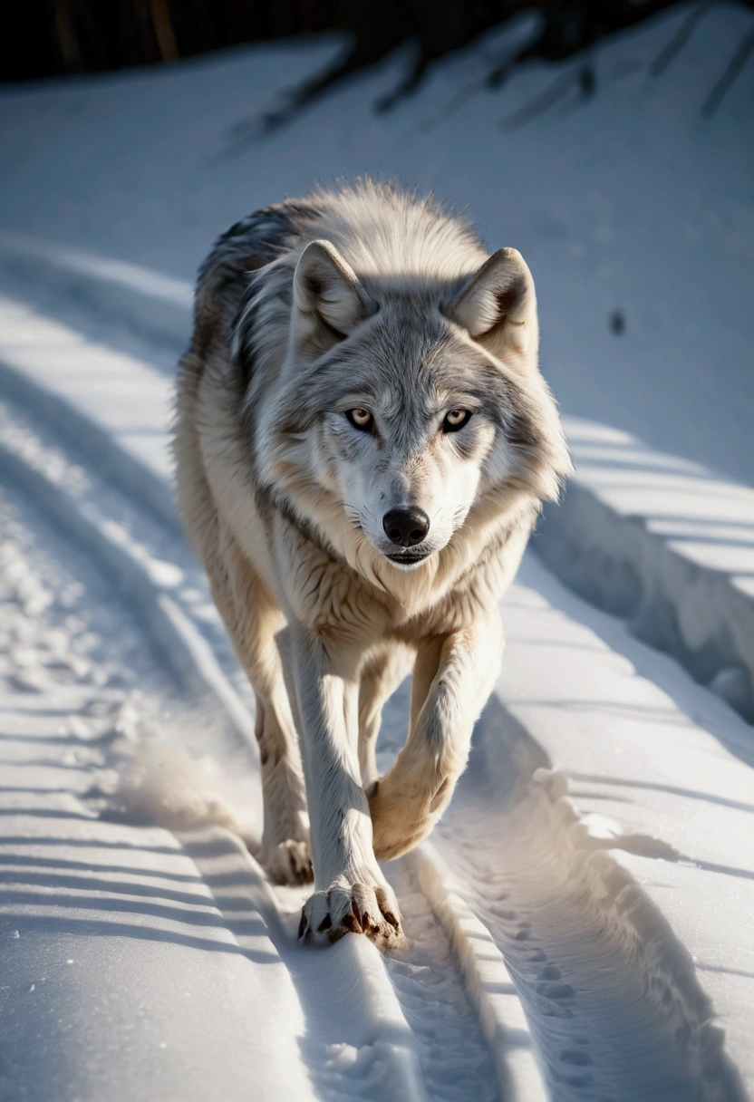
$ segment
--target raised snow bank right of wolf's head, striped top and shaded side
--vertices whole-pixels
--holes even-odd
[[[754,721],[754,489],[566,419],[575,463],[534,547],[588,601]]]

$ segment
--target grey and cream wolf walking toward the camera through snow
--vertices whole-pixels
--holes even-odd
[[[451,799],[499,672],[499,598],[571,471],[538,339],[521,256],[387,182],[259,210],[200,269],[177,501],[256,696],[263,861],[314,878],[306,941],[402,939],[378,862]]]

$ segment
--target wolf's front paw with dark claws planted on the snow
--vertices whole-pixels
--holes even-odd
[[[341,879],[310,896],[301,911],[299,937],[327,946],[346,933],[366,933],[380,949],[399,946],[405,939],[392,888]]]

